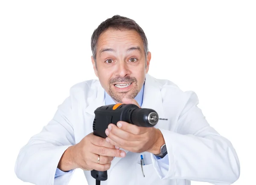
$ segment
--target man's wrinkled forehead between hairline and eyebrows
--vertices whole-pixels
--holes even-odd
[[[143,49],[143,40],[140,34],[135,30],[116,30],[108,29],[100,35],[97,42],[97,51],[103,47],[130,47],[141,46]]]

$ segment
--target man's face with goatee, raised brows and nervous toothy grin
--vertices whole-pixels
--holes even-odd
[[[136,31],[108,29],[97,43],[97,68],[91,58],[102,87],[117,103],[140,92],[151,53],[145,56],[143,40]]]

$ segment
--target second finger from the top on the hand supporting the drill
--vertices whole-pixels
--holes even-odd
[[[126,130],[122,130],[118,127],[116,127],[115,124],[109,124],[108,128],[105,130],[105,133],[107,136],[109,136],[110,133],[118,136],[121,139],[124,139],[126,141],[135,141],[137,140],[137,137],[133,133],[129,133]]]

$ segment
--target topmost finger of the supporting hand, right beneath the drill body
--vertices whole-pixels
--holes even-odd
[[[121,130],[124,130],[128,133],[132,133],[134,135],[140,135],[140,134],[146,133],[150,129],[152,129],[151,127],[138,127],[137,125],[130,124],[130,123],[127,123],[125,121],[118,121],[116,123],[116,126],[118,128],[120,128]]]

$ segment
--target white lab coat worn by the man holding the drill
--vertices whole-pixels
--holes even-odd
[[[141,153],[125,150],[125,158],[113,159],[108,180],[101,185],[235,182],[240,175],[236,151],[209,126],[197,104],[198,97],[193,91],[183,92],[171,81],[147,74],[142,107],[154,109],[160,118],[168,119],[159,120],[155,127],[163,134],[169,162],[161,163],[153,154],[143,153],[147,158],[143,177],[138,164]],[[17,177],[36,185],[67,185],[74,171],[54,179],[59,159],[70,145],[93,132],[94,110],[102,105],[105,105],[104,89],[98,80],[71,87],[70,96],[58,106],[53,119],[20,150],[15,165]],[[90,171],[84,171],[84,175],[89,185],[95,185]]]

